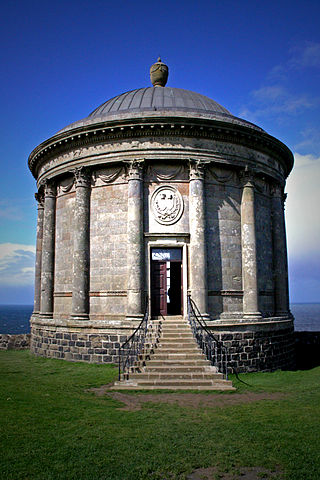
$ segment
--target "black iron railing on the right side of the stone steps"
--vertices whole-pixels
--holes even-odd
[[[192,333],[207,359],[228,380],[228,350],[205,323],[204,318],[191,296],[188,295],[188,320]]]

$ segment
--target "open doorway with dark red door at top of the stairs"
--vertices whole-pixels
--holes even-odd
[[[182,249],[151,249],[151,315],[182,314]]]

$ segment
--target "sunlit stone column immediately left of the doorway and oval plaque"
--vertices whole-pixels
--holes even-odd
[[[128,162],[128,293],[127,317],[143,314],[143,161]]]

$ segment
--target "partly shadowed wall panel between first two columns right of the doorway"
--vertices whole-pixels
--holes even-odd
[[[241,199],[237,183],[231,170],[211,168],[207,175],[208,310],[212,318],[242,311]]]

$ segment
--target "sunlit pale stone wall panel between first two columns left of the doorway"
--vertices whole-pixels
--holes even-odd
[[[107,176],[105,169],[100,178]],[[110,173],[111,175],[111,173]],[[101,184],[91,192],[90,318],[124,316],[127,296],[128,185]]]

